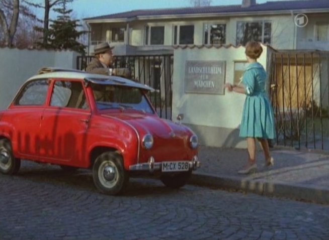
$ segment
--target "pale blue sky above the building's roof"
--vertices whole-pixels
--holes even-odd
[[[283,0],[256,0],[256,3],[263,4],[277,1]],[[40,0],[35,2],[40,2]],[[240,5],[241,3],[242,0],[212,0],[211,6]],[[73,10],[72,16],[75,19],[97,17],[140,9],[184,7],[192,7],[190,0],[74,0],[69,6],[69,8]],[[41,14],[42,16],[40,16]],[[40,14],[38,13],[38,16],[43,17],[43,12]]]

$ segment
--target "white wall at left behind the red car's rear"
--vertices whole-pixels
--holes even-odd
[[[21,85],[42,67],[76,69],[77,53],[71,51],[0,48],[0,109],[5,109]]]

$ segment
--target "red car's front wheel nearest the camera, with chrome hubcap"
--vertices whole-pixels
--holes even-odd
[[[122,157],[113,152],[101,154],[93,166],[93,179],[102,193],[109,195],[122,193],[129,181]]]

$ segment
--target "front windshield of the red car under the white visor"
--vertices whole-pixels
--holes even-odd
[[[97,109],[134,109],[154,113],[142,90],[135,87],[91,84]]]

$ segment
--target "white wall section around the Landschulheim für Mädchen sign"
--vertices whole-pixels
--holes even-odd
[[[212,47],[210,49],[178,48],[174,51],[173,116],[183,113],[182,123],[191,126],[194,130],[198,129],[197,134],[203,145],[221,147],[227,135],[233,131],[237,132],[245,95],[228,91],[223,95],[185,93],[185,63],[187,60],[226,61],[225,82],[233,84],[234,61],[245,60],[244,50],[244,47],[219,49]],[[258,62],[265,69],[266,58],[267,47],[263,46],[263,53]],[[220,134],[221,132],[223,134]],[[213,133],[219,134],[211,136]],[[244,144],[225,147],[243,148]]]

